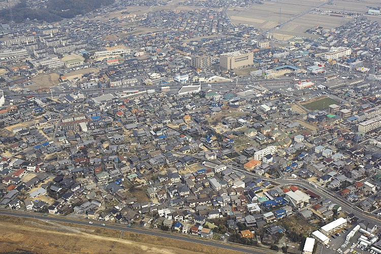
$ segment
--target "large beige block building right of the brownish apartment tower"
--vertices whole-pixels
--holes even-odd
[[[235,51],[219,55],[219,66],[224,70],[232,70],[244,66],[251,66],[253,63],[253,52],[243,53]]]

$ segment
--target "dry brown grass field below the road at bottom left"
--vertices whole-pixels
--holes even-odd
[[[33,219],[28,219],[33,220]],[[25,224],[23,218],[0,216],[0,253],[160,253],[228,254],[230,250],[162,237],[97,228],[93,233],[71,233]],[[45,225],[41,220],[35,220]],[[62,223],[63,224],[63,223]],[[69,227],[82,227],[63,224]],[[237,252],[238,253],[238,252]]]

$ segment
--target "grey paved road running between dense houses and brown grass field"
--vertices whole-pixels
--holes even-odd
[[[253,249],[253,247],[243,248],[243,247],[231,246],[231,245],[227,245],[227,244],[223,244],[223,243],[218,243],[214,240],[207,241],[207,240],[194,239],[194,238],[180,236],[180,235],[171,235],[171,234],[165,234],[165,233],[161,233],[161,232],[135,229],[135,228],[128,228],[128,227],[124,227],[124,226],[117,226],[117,225],[110,225],[110,224],[106,224],[106,226],[102,226],[102,224],[97,223],[96,221],[94,221],[93,224],[88,224],[87,221],[75,220],[75,219],[66,218],[66,217],[65,218],[64,217],[62,217],[62,218],[60,218],[60,217],[44,217],[41,215],[33,215],[33,214],[22,213],[22,212],[0,211],[0,214],[23,217],[23,218],[49,219],[51,221],[60,221],[63,223],[86,225],[89,227],[107,228],[107,229],[121,230],[121,231],[126,231],[126,232],[139,233],[139,234],[144,234],[144,235],[165,237],[165,238],[170,238],[170,239],[175,239],[175,240],[180,240],[180,241],[186,241],[186,242],[190,242],[190,243],[197,243],[197,244],[203,244],[203,245],[208,245],[208,246],[212,246],[212,247],[229,249],[229,250],[232,250],[235,252],[244,252],[244,253],[253,253],[253,254],[275,253],[271,250],[266,250],[266,249],[262,250],[260,248]]]

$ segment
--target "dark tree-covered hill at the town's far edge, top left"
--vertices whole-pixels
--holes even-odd
[[[63,18],[73,18],[79,14],[85,14],[100,8],[111,5],[115,0],[49,0],[45,7],[28,8],[25,0],[12,8],[13,20],[20,23],[27,18],[40,21],[55,22]],[[11,21],[9,9],[0,10],[0,21]]]

